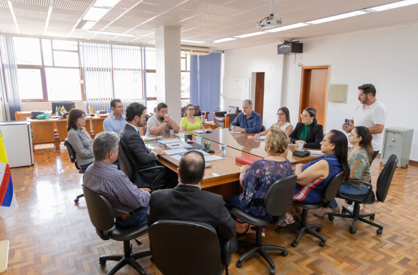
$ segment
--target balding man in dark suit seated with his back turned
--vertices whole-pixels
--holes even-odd
[[[189,151],[180,160],[179,185],[174,189],[158,190],[149,200],[148,226],[157,220],[189,220],[205,222],[215,228],[219,244],[231,240],[229,252],[238,247],[235,221],[225,207],[221,195],[202,191],[205,159],[197,151]]]

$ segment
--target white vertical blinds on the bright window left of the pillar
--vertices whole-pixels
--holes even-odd
[[[113,98],[145,105],[141,55],[137,46],[80,42],[87,106],[109,110]]]

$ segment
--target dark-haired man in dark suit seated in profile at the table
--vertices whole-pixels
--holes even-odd
[[[127,123],[119,133],[120,143],[126,151],[126,155],[131,161],[132,166],[136,170],[158,165],[156,162],[157,156],[164,154],[164,151],[159,149],[151,149],[149,151],[139,134],[138,127],[142,127],[144,124],[146,109],[147,107],[136,102],[129,104],[125,111]],[[157,190],[173,188],[177,185],[178,178],[176,173],[167,169],[166,173],[161,178],[159,185],[150,186],[150,183],[157,177],[159,172],[159,169],[141,172],[137,175],[139,178],[136,179],[138,186]]]

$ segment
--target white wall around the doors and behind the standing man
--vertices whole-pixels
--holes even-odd
[[[305,39],[301,40],[303,54],[296,55],[296,58],[287,55],[282,59],[277,55],[276,44],[228,51],[224,54],[224,77],[247,77],[248,72],[266,68],[266,76],[268,73],[270,76],[265,79],[264,102],[267,108],[264,109],[264,124],[269,125],[276,119],[274,114],[279,106],[289,108],[291,121],[296,124],[301,78],[298,63],[303,66],[330,65],[329,83],[347,83],[349,86],[346,104],[328,103],[325,131],[341,129],[344,118],[350,118],[358,105],[357,87],[373,83],[377,89],[376,98],[388,109],[386,127],[414,129],[410,159],[418,161],[418,120],[415,118],[418,103],[417,33],[416,23]],[[284,63],[280,63],[281,60]],[[271,75],[269,70],[275,73]]]

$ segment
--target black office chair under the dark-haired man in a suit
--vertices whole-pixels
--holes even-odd
[[[120,170],[123,171],[129,178],[131,182],[136,184],[139,188],[149,188],[151,190],[156,190],[159,187],[159,182],[164,175],[166,168],[163,165],[156,165],[153,167],[141,169],[138,171],[135,171],[134,167],[132,166],[131,161],[129,160],[128,156],[126,155],[125,148],[122,145],[122,142],[119,140],[119,155],[118,155],[118,161],[120,165]],[[140,173],[158,169],[160,170],[159,174],[155,177],[155,179],[147,186],[144,186],[142,182],[140,182]]]

